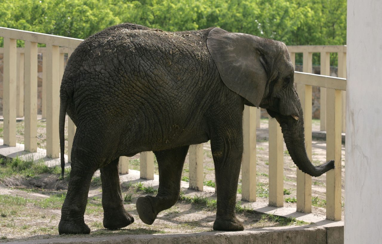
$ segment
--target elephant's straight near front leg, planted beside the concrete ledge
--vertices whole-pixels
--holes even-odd
[[[236,218],[235,213],[236,191],[243,156],[243,140],[240,136],[238,137],[234,140],[229,136],[211,138],[217,190],[217,212],[213,226],[214,230],[244,230],[243,223]]]

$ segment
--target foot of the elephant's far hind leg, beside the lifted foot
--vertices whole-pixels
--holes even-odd
[[[126,212],[124,207],[105,211],[104,227],[106,229],[119,229],[126,227],[134,222],[133,216]]]

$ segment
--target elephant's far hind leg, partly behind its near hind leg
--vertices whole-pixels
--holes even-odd
[[[104,227],[118,229],[134,222],[134,218],[123,207],[118,175],[118,158],[100,169],[102,180],[102,207]]]

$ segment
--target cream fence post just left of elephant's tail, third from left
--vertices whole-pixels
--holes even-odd
[[[58,115],[60,110],[60,48],[47,45],[47,157],[60,156],[60,140],[58,138]]]

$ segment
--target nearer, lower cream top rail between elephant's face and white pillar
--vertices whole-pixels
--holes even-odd
[[[295,71],[295,83],[346,91],[346,79]]]

